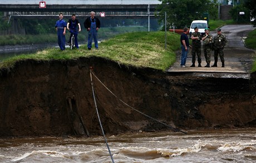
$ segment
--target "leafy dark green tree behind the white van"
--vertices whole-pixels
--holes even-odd
[[[168,27],[174,26],[184,28],[190,26],[195,19],[203,19],[204,13],[209,13],[210,18],[215,19],[218,14],[216,0],[159,0],[162,2],[156,8],[159,11],[159,21],[164,22],[165,12]]]

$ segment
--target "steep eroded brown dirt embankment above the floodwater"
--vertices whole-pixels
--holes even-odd
[[[167,129],[131,107],[183,130],[256,126],[255,73],[250,80],[170,75],[92,57],[1,70],[0,136],[101,135],[90,66],[116,95],[92,76],[106,134]]]

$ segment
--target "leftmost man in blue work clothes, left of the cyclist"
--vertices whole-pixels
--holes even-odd
[[[66,42],[65,34],[66,34],[67,23],[63,20],[63,13],[58,14],[58,17],[60,19],[56,22],[55,28],[58,35],[58,46],[63,51],[65,50],[65,42]]]

